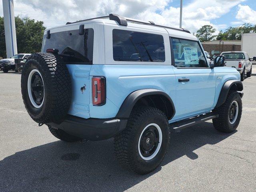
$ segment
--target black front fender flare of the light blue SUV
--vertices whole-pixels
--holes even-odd
[[[221,106],[225,101],[226,98],[228,96],[228,92],[229,90],[232,88],[232,90],[235,91],[242,91],[244,89],[243,84],[241,81],[238,80],[228,80],[224,83],[224,85],[222,86],[222,89],[220,91],[220,95],[218,98],[218,102],[215,106],[215,108]],[[243,94],[241,93],[240,96],[242,97]]]

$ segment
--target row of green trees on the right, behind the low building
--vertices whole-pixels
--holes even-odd
[[[244,23],[242,26],[229,27],[226,30],[220,30],[218,35],[214,35],[216,29],[211,25],[204,25],[197,30],[196,35],[201,42],[211,40],[241,40],[243,33],[255,33],[256,25]]]

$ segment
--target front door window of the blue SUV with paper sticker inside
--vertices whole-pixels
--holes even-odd
[[[170,38],[175,67],[208,67],[196,41]]]

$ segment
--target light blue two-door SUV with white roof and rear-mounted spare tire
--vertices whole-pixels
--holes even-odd
[[[22,98],[56,138],[114,137],[120,164],[146,174],[174,130],[210,119],[220,132],[236,130],[243,84],[224,61],[208,64],[188,30],[110,14],[47,29],[22,70]]]

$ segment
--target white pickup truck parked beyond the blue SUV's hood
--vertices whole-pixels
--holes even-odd
[[[252,75],[252,61],[249,55],[243,51],[227,51],[222,52],[220,55],[226,57],[226,67],[234,67],[241,74],[241,81],[244,80],[244,75],[246,73],[247,77]]]

